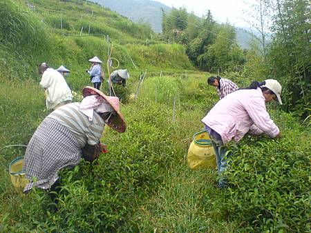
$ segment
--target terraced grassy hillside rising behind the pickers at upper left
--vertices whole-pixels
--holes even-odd
[[[63,64],[72,70],[68,83],[75,89],[77,85],[73,80],[80,85],[88,83],[84,72],[89,66],[88,59],[96,55],[106,63],[111,43],[112,57],[120,61],[120,68],[127,68],[130,73],[146,69],[194,69],[180,45],[154,42],[150,39],[153,35],[150,28],[94,3],[9,0],[1,1],[0,12],[3,16],[0,24],[1,78],[38,79],[37,64],[46,61],[54,68]],[[99,36],[89,36],[88,26],[90,34]],[[105,41],[106,34],[111,43]],[[147,43],[146,39],[149,39]]]

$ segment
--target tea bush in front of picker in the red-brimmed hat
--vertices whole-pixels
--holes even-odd
[[[102,232],[122,227],[182,152],[171,140],[176,130],[168,124],[171,112],[167,107],[162,105],[159,112],[157,105],[137,102],[126,110],[124,115],[131,114],[126,120],[126,132],[105,131],[102,142],[108,143],[108,154],[102,154],[96,164],[82,162],[62,172],[57,212],[52,214],[44,192],[33,192],[23,199],[22,216],[9,214],[10,218],[29,227],[23,230]],[[6,223],[2,223],[5,231],[19,229]]]

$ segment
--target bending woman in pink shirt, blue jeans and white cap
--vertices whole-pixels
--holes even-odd
[[[281,136],[265,108],[265,102],[272,100],[282,104],[278,81],[253,82],[248,88],[236,90],[220,99],[202,119],[216,154],[220,188],[227,186],[222,174],[227,168],[227,159],[232,156],[225,149],[226,143],[232,139],[241,140],[247,132],[254,135],[265,133],[272,138]]]

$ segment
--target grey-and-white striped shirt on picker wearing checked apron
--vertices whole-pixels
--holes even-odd
[[[68,103],[57,108],[48,117],[68,128],[77,137],[81,148],[84,148],[86,143],[95,145],[100,142],[105,123],[97,112],[94,112],[93,121],[88,121],[88,117],[79,110],[79,105],[80,103]]]

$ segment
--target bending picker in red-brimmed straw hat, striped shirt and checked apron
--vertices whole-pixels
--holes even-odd
[[[50,113],[33,134],[23,165],[30,183],[23,192],[34,186],[48,190],[59,179],[59,170],[77,165],[82,157],[97,159],[105,124],[117,132],[126,130],[117,97],[91,87],[83,89],[83,96],[81,103],[69,103]]]

